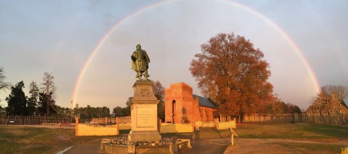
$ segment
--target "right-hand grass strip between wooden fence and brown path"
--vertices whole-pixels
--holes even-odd
[[[235,131],[243,138],[274,138],[335,142],[348,139],[348,127],[323,124],[240,124]]]

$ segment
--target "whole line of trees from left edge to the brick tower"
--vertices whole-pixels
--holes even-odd
[[[3,67],[0,67],[0,90],[10,90],[10,94],[6,97],[7,107],[0,105],[0,117],[45,117],[45,118],[63,118],[69,119],[72,117],[79,117],[81,120],[90,120],[92,118],[110,118],[122,117],[131,115],[131,108],[129,105],[133,97],[128,98],[126,107],[115,107],[110,113],[108,107],[79,107],[75,104],[73,109],[68,107],[60,107],[56,104],[55,98],[55,77],[52,73],[43,73],[43,83],[38,85],[32,81],[29,85],[29,94],[25,94],[23,80],[12,85],[5,82]],[[160,81],[154,82],[154,94],[160,103],[158,104],[158,115],[164,118],[164,87]],[[3,100],[0,100],[2,102]]]

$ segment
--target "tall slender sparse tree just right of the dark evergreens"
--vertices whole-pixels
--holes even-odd
[[[54,96],[55,94],[55,82],[53,81],[55,79],[55,76],[52,75],[51,73],[45,72],[43,73],[43,83],[41,84],[41,91],[43,94],[46,94],[47,96],[50,96],[52,94]],[[50,106],[51,100],[50,97],[47,97],[47,117],[49,115],[48,108]]]

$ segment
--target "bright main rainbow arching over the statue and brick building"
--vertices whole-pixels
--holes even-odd
[[[79,85],[81,84],[81,80],[82,78],[84,78],[84,74],[86,73],[88,66],[90,65],[91,61],[93,61],[94,56],[97,54],[97,52],[99,51],[100,47],[104,44],[104,42],[109,38],[109,36],[111,34],[113,34],[113,32],[115,32],[115,30],[117,30],[117,28],[119,28],[120,25],[122,25],[122,23],[124,23],[125,21],[128,21],[129,19],[133,19],[134,17],[137,17],[137,15],[142,14],[142,12],[146,12],[146,10],[151,10],[153,8],[157,8],[160,7],[162,5],[166,5],[168,3],[174,3],[176,1],[182,1],[182,0],[169,0],[169,1],[160,1],[158,3],[153,3],[151,5],[147,5],[144,8],[141,8],[135,12],[132,12],[131,14],[126,15],[124,18],[122,18],[120,21],[118,21],[113,28],[111,28],[99,41],[99,43],[97,44],[97,46],[94,48],[93,52],[90,53],[90,56],[88,56],[88,59],[86,61],[86,63],[84,64],[84,67],[82,67],[81,71],[79,72],[79,76],[77,78],[77,82],[75,83],[75,88],[72,94],[72,102],[75,102],[76,97],[77,97],[77,91],[79,91]],[[267,22],[269,25],[271,25],[271,27],[273,27],[274,29],[276,29],[283,37],[284,39],[286,39],[289,44],[293,47],[293,49],[295,50],[296,54],[298,54],[298,56],[300,56],[301,60],[303,61],[303,63],[305,63],[305,66],[307,67],[307,71],[309,72],[309,75],[311,77],[311,80],[313,82],[313,85],[316,88],[316,91],[319,91],[319,83],[318,80],[313,72],[313,70],[311,69],[307,59],[305,58],[305,56],[302,54],[302,52],[300,51],[299,47],[292,41],[292,39],[284,32],[284,30],[282,30],[282,28],[280,28],[276,23],[274,23],[273,21],[271,21],[271,19],[268,19],[267,17],[265,17],[263,14],[261,14],[260,12],[256,11],[256,10],[252,10],[251,8],[247,7],[246,5],[242,5],[240,3],[236,3],[233,1],[229,1],[229,0],[214,0],[214,1],[219,1],[221,3],[226,3],[228,5],[233,5],[234,7],[237,8],[241,8],[242,10],[246,10],[247,12],[250,12],[251,14],[254,14],[256,17],[259,17],[260,19],[262,19],[263,21]]]

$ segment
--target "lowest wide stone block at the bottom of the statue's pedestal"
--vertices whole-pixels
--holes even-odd
[[[128,140],[132,142],[160,141],[162,140],[162,136],[158,131],[131,131],[128,134]]]

